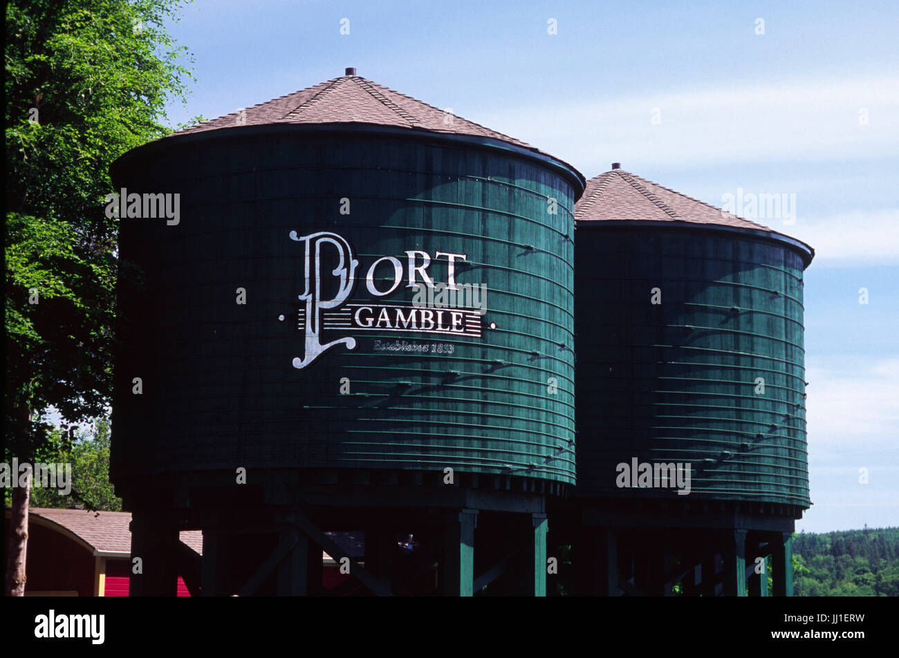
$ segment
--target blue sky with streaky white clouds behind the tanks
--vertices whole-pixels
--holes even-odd
[[[817,253],[805,287],[814,506],[797,529],[896,526],[897,25],[893,0],[196,0],[169,26],[197,77],[169,120],[212,119],[357,67],[588,178],[621,162],[719,207],[738,189],[795,194],[795,224],[756,220]]]

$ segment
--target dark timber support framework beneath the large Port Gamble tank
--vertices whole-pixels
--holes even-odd
[[[131,555],[142,566],[132,595],[174,596],[179,574],[204,596],[546,594],[546,502],[564,485],[511,476],[442,485],[396,471],[317,473],[303,483],[270,472],[256,486],[225,477],[132,494]],[[203,532],[200,560],[178,540],[185,529]],[[365,531],[364,563],[325,534],[339,530]],[[414,552],[398,548],[406,533]],[[322,551],[350,560],[351,579],[325,591]]]

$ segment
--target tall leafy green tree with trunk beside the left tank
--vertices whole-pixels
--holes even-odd
[[[182,0],[11,0],[4,44],[6,371],[4,460],[53,451],[67,422],[111,396],[115,284],[131,276],[107,218],[109,164],[170,132],[190,58],[166,33]],[[7,591],[23,591],[27,497],[13,492]],[[14,573],[13,573],[14,572]]]

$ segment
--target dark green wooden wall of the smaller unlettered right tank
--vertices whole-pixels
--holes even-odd
[[[801,250],[602,224],[576,237],[576,494],[808,507]],[[632,458],[690,462],[690,494],[619,488]]]

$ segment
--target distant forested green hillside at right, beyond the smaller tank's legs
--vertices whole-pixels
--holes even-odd
[[[797,596],[899,596],[899,528],[795,536]]]

